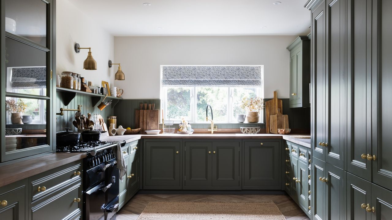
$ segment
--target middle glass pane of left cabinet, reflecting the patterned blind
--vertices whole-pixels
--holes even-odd
[[[36,94],[46,88],[46,52],[19,41],[5,38],[7,92]],[[44,94],[46,95],[46,89]]]

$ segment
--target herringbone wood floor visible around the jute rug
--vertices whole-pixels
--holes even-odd
[[[202,195],[202,194],[136,194],[117,213],[117,220],[136,220],[149,202],[267,202],[273,201],[287,220],[309,220],[288,195]]]

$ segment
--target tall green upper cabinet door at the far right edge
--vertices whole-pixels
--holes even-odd
[[[377,23],[373,26],[373,33],[376,35],[376,39],[379,39],[377,41],[379,50],[374,50],[373,54],[375,59],[372,73],[373,79],[377,80],[373,81],[372,86],[372,94],[374,94],[372,99],[372,106],[374,106],[372,108],[372,152],[367,151],[366,153],[376,156],[372,162],[372,182],[392,190],[392,135],[390,132],[392,123],[390,114],[392,108],[392,99],[390,98],[392,93],[392,43],[388,40],[392,36],[390,25],[392,1],[377,0],[373,1],[373,5],[373,18]]]

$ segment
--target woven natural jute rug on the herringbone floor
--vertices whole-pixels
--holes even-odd
[[[285,220],[274,202],[150,202],[138,220]]]

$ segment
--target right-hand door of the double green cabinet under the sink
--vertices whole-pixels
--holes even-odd
[[[212,186],[240,187],[240,142],[212,142]]]

